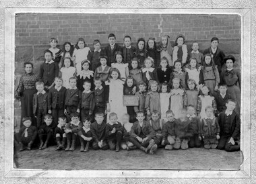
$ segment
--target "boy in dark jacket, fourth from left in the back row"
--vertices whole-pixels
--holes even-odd
[[[103,50],[100,48],[100,40],[94,40],[93,42],[94,48],[88,53],[87,59],[90,60],[92,64],[92,71],[95,72],[96,68],[100,66],[99,57],[102,56]]]

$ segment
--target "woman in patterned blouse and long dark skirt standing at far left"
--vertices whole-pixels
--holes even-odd
[[[39,77],[37,74],[33,73],[33,64],[31,62],[25,62],[24,68],[26,73],[22,75],[20,79],[15,97],[21,99],[22,118],[28,116],[33,120],[33,95],[37,92],[35,83],[39,80]],[[36,121],[33,120],[32,124],[36,126]]]

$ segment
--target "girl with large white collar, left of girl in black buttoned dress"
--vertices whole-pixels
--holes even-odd
[[[158,75],[156,73],[156,69],[152,68],[152,65],[154,64],[153,58],[146,58],[144,61],[144,65],[146,66],[145,68],[142,69],[142,80],[144,83],[148,85],[149,81],[158,81]]]

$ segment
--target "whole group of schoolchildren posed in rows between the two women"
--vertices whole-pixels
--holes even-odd
[[[56,150],[73,151],[78,138],[82,152],[90,146],[150,154],[161,147],[240,149],[240,112],[220,83],[221,59],[203,55],[197,42],[189,53],[183,35],[173,48],[168,36],[159,46],[139,38],[136,48],[130,36],[123,47],[115,40],[110,34],[106,48],[94,40],[90,49],[79,38],[74,49],[65,42],[61,50],[51,38],[35,84],[36,126],[23,118],[20,150],[30,150],[36,136],[40,150],[55,140]],[[211,43],[216,48],[218,38]],[[123,95],[137,96],[138,105],[124,106]]]

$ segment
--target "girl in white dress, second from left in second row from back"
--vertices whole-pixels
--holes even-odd
[[[60,77],[63,80],[63,87],[69,88],[69,78],[75,75],[75,67],[71,58],[64,58],[63,66],[61,67]]]

